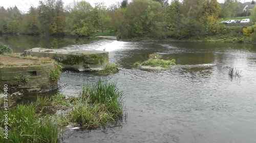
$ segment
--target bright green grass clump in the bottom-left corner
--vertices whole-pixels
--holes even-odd
[[[34,104],[17,105],[11,108],[9,114],[8,139],[0,135],[0,142],[58,142],[60,128],[51,122],[51,119],[40,117],[35,112]],[[0,115],[4,117],[4,112]],[[5,127],[4,119],[0,121],[2,129]]]

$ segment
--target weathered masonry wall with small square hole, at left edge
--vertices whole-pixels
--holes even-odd
[[[54,63],[0,68],[0,87],[8,84],[10,92],[39,94],[56,90],[57,81],[51,80]]]

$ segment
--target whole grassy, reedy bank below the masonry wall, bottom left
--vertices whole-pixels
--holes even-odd
[[[11,123],[8,139],[1,136],[6,125],[4,120],[0,121],[0,142],[57,143],[65,126],[90,129],[116,123],[123,116],[122,99],[123,92],[118,90],[115,82],[101,79],[92,85],[84,85],[78,97],[66,98],[57,94],[18,105],[9,98],[12,116],[8,120]],[[1,98],[1,110],[3,102]],[[0,115],[4,117],[4,112]]]

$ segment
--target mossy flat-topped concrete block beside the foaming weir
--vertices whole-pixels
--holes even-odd
[[[33,48],[25,50],[25,55],[49,57],[58,62],[63,69],[76,71],[99,71],[109,63],[109,52],[100,50]]]

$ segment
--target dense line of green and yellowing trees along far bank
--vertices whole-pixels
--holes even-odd
[[[123,0],[106,7],[92,7],[86,1],[74,1],[64,7],[62,0],[40,1],[27,13],[18,8],[0,8],[0,34],[79,35],[111,30],[119,38],[188,38],[218,33],[219,17],[229,17],[238,9],[237,0]]]

